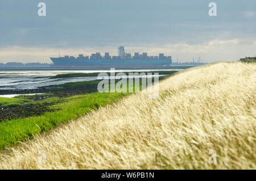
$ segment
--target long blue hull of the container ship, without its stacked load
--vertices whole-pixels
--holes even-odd
[[[72,58],[51,58],[54,66],[88,66],[88,67],[144,67],[144,66],[170,66],[171,60],[146,59],[146,60],[113,60],[113,59],[72,59]]]

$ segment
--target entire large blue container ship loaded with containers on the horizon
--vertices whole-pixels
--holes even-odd
[[[105,56],[101,53],[92,53],[92,55],[84,56],[79,54],[79,57],[64,56],[53,58],[50,57],[54,66],[87,66],[87,67],[145,67],[145,66],[170,66],[172,63],[171,56],[164,56],[159,53],[159,56],[148,56],[147,53],[139,54],[125,53],[124,47],[118,47],[118,56],[110,56],[108,52]]]

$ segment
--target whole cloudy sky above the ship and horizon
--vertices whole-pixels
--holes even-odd
[[[217,16],[209,16],[210,2]],[[0,0],[0,63],[117,55],[118,46],[174,62],[236,61],[256,55],[255,30],[255,0]]]

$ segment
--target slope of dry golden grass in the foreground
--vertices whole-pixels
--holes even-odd
[[[181,71],[158,99],[132,94],[10,148],[0,169],[256,169],[255,81],[256,64]]]

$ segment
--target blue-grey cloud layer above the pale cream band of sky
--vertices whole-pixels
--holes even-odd
[[[253,11],[255,0],[216,0],[217,17],[208,16],[210,1],[202,0],[42,1],[46,17],[37,15],[37,1],[1,0],[0,47],[200,44],[255,37],[255,18],[238,13]]]

